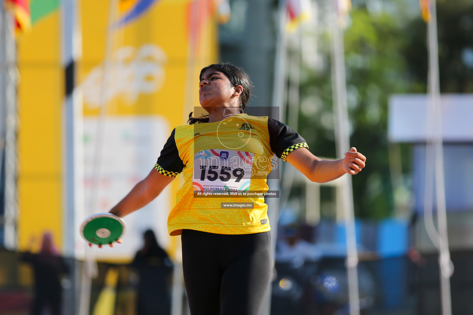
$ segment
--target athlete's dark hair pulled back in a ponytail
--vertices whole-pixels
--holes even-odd
[[[243,87],[243,92],[240,94],[240,113],[243,113],[246,107],[246,103],[250,99],[253,90],[253,82],[251,82],[250,76],[243,70],[243,68],[232,65],[231,63],[214,63],[210,66],[202,68],[199,75],[199,81],[202,81],[202,75],[205,71],[210,68],[215,68],[217,71],[220,71],[228,78],[231,86],[241,85]],[[201,117],[192,117],[193,112],[189,114],[189,125],[193,125],[196,122],[209,122],[209,115],[202,115]]]

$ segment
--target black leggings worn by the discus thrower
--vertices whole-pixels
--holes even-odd
[[[260,315],[271,280],[270,232],[182,231],[184,282],[192,315]]]

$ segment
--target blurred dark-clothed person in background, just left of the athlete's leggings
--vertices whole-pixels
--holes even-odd
[[[171,297],[168,288],[173,265],[152,230],[144,232],[143,239],[144,245],[131,263],[139,276],[137,315],[169,315]]]

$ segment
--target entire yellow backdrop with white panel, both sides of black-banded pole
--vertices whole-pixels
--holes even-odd
[[[193,107],[199,106],[198,75],[217,60],[217,30],[212,0],[82,0],[79,5],[82,54],[76,75],[84,109],[85,205],[95,176],[91,170],[97,116],[104,107],[98,205],[107,209],[152,170],[172,129],[184,124]],[[56,10],[35,23],[18,43],[22,249],[31,237],[37,239],[38,248],[45,231],[52,232],[56,246],[62,247],[65,76],[60,27]],[[115,251],[100,251],[101,257],[130,258],[140,247],[138,232],[147,228],[155,230],[165,247],[175,248],[174,238],[166,235],[166,218],[180,184],[175,180],[150,208],[125,217],[130,229],[124,244]],[[83,246],[78,231],[70,232],[77,234],[76,246]]]

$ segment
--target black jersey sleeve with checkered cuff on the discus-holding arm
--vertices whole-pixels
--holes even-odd
[[[158,162],[156,162],[154,166],[159,173],[165,176],[176,177],[184,169],[184,163],[179,157],[179,151],[177,150],[176,141],[174,139],[175,131],[176,129],[174,128],[163,150],[161,150]]]

